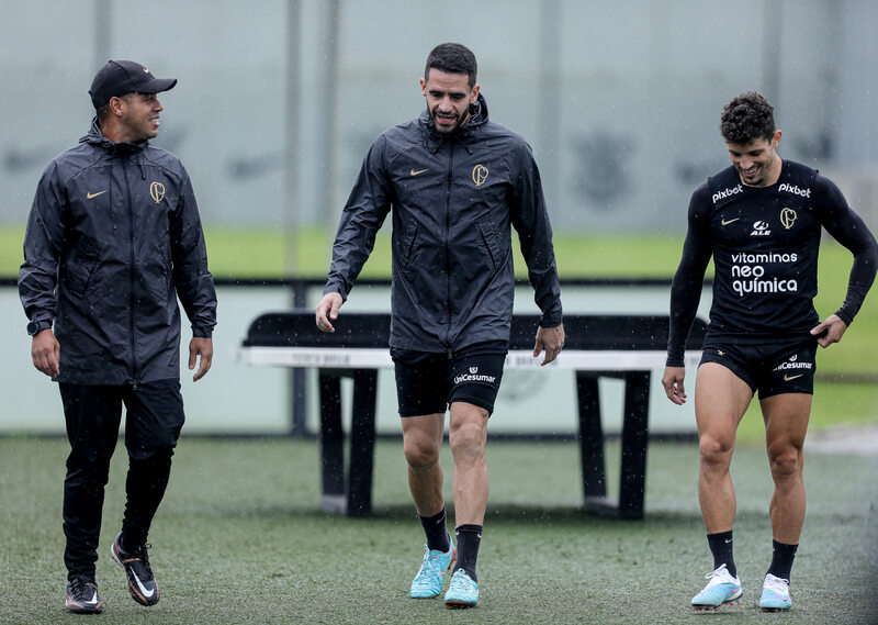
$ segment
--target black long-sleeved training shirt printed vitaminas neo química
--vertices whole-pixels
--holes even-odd
[[[716,275],[706,341],[754,344],[810,337],[821,227],[854,254],[846,324],[875,280],[878,244],[838,188],[814,169],[785,160],[769,187],[747,187],[734,167],[693,193],[683,258],[671,287],[667,365],[682,367],[711,256]]]

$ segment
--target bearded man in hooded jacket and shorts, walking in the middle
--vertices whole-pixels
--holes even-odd
[[[544,350],[543,365],[564,345],[561,289],[537,164],[524,138],[488,119],[473,53],[460,44],[438,45],[420,88],[427,110],[379,136],[365,157],[315,316],[322,331],[335,331],[338,310],[391,214],[391,356],[408,487],[427,536],[409,595],[439,596],[444,571],[454,566],[446,606],[472,607],[479,601],[475,563],[488,491],[487,421],[513,314],[509,226],[518,232],[542,311],[533,356]],[[446,529],[439,462],[446,410],[457,550]]]

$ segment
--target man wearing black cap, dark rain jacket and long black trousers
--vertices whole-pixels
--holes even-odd
[[[19,293],[34,367],[58,382],[70,455],[64,482],[67,610],[100,613],[94,563],[103,490],[126,409],[127,501],[111,555],[128,590],[154,605],[146,538],[183,425],[179,298],[192,326],[189,369],[211,368],[216,293],[189,175],[149,144],[177,85],[131,60],[94,76],[97,110],[79,145],[37,186]]]

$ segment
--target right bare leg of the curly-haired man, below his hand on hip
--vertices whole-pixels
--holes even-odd
[[[774,539],[797,545],[804,523],[802,462],[804,434],[811,414],[808,393],[774,395],[759,402],[765,420],[768,464],[775,481],[769,513]]]

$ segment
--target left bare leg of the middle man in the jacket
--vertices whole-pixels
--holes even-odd
[[[403,450],[408,462],[408,490],[420,516],[439,514],[444,506],[444,476],[439,462],[444,417],[444,414],[438,413],[402,418]]]

